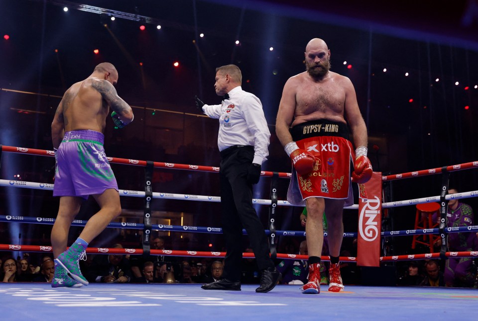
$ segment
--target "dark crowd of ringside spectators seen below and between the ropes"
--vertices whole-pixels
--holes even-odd
[[[303,215],[300,221],[304,220]],[[299,220],[298,220],[299,221]],[[306,224],[303,222],[302,225]],[[185,241],[189,239],[186,238]],[[478,240],[478,238],[477,238]],[[189,244],[179,244],[170,237],[153,236],[151,249],[187,249]],[[128,248],[132,242],[139,245],[134,235],[116,238],[111,248]],[[203,241],[206,242],[206,241]],[[252,252],[247,247],[247,237],[243,238],[244,252]],[[133,244],[134,245],[134,244]],[[478,244],[472,244],[473,246]],[[134,247],[134,246],[133,246]],[[224,248],[221,250],[224,251]],[[418,249],[423,250],[423,249]],[[307,255],[307,243],[300,238],[287,238],[279,242],[279,253]],[[327,240],[322,255],[327,255]],[[23,257],[13,258],[13,252],[2,252],[0,259],[0,280],[2,282],[51,282],[54,264],[51,254],[23,253]],[[340,256],[357,256],[357,239],[345,240]],[[456,273],[454,279],[445,278],[448,264],[443,260],[416,260],[396,263],[396,285],[398,286],[440,286],[478,288],[478,259],[462,258],[469,261],[470,269],[466,273]],[[461,262],[460,261],[460,262]],[[275,264],[282,273],[280,284],[297,285],[307,280],[307,260],[276,259]],[[323,262],[321,284],[328,284],[328,264]],[[168,255],[128,254],[88,254],[80,262],[81,270],[89,282],[99,283],[209,283],[223,277],[222,258],[191,258]],[[362,277],[362,270],[356,263],[341,262],[342,278],[345,285],[370,284]],[[449,274],[449,273],[448,273]],[[259,271],[254,258],[244,258],[241,265],[241,283],[258,284]]]

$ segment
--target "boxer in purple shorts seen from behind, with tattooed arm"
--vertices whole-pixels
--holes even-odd
[[[51,231],[55,275],[51,286],[88,285],[79,260],[95,237],[121,213],[118,184],[103,148],[103,132],[110,107],[119,128],[133,120],[131,107],[118,96],[118,71],[110,63],[95,67],[87,79],[73,84],[63,95],[51,124],[57,166],[53,196],[60,207]],[[66,250],[68,231],[83,199],[93,195],[100,211],[93,215],[80,237]]]

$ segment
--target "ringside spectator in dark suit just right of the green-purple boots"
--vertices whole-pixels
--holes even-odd
[[[113,248],[123,246],[115,244]],[[131,267],[124,254],[99,254],[93,258],[87,276],[90,282],[127,283],[131,281]]]

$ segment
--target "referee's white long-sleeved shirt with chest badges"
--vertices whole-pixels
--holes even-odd
[[[259,98],[240,86],[228,92],[221,105],[204,105],[203,111],[219,119],[219,151],[234,145],[254,147],[253,163],[262,164],[269,155],[270,132]]]

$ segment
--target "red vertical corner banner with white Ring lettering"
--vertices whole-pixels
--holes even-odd
[[[357,265],[380,265],[382,223],[382,173],[373,172],[365,184],[359,184],[359,237]]]

